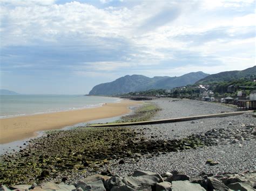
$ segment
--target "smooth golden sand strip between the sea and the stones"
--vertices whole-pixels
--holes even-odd
[[[60,129],[77,123],[128,114],[131,111],[129,107],[136,104],[139,102],[123,100],[98,108],[0,119],[0,144],[35,137],[37,131]]]

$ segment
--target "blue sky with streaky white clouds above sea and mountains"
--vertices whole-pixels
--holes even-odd
[[[255,66],[251,0],[1,0],[1,89],[87,94],[124,75]]]

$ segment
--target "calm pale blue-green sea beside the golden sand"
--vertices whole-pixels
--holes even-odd
[[[0,95],[0,118],[100,107],[119,98],[79,95]]]

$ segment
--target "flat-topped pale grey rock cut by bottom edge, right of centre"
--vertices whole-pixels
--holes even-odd
[[[190,181],[173,181],[172,191],[206,191],[198,183],[191,183]]]

